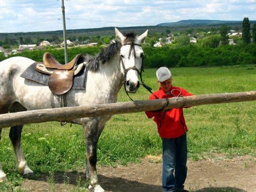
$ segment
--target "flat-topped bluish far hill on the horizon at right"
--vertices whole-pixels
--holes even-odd
[[[250,20],[250,23],[254,23],[256,20]],[[243,20],[180,20],[178,22],[164,22],[161,24],[157,24],[157,26],[164,27],[198,27],[198,26],[220,26],[222,24],[226,25],[234,25],[234,24],[242,24]]]

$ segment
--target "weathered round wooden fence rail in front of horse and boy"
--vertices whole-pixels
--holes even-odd
[[[256,91],[173,97],[168,100],[135,100],[132,102],[97,104],[93,106],[39,109],[0,115],[0,128],[22,124],[36,124],[40,122],[68,121],[90,116],[153,111],[163,109],[164,106],[166,106],[166,109],[171,109],[252,100],[256,100]]]

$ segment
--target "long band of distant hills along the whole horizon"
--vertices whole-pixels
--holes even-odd
[[[256,20],[250,20],[252,26],[253,23],[256,23]],[[243,20],[180,20],[178,22],[164,22],[157,24],[156,26],[132,26],[132,27],[117,27],[122,33],[129,33],[134,31],[136,34],[141,34],[147,29],[150,34],[163,34],[166,31],[185,31],[187,29],[210,29],[210,28],[219,28],[222,24],[230,26],[239,30],[242,28]],[[12,41],[20,42],[20,38],[23,40],[26,38],[31,38],[36,40],[38,38],[52,38],[52,36],[58,36],[60,39],[63,38],[63,31],[36,31],[36,32],[18,32],[18,33],[0,33],[0,42],[9,39]],[[72,38],[74,36],[115,36],[114,27],[107,28],[91,28],[91,29],[67,29],[67,38]],[[1,45],[1,44],[0,44]]]

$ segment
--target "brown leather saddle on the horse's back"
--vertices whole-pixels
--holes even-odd
[[[51,53],[45,52],[43,63],[38,63],[35,69],[42,74],[50,75],[48,86],[52,93],[63,95],[72,88],[74,76],[79,74],[83,67],[82,54],[77,54],[72,61],[62,65]]]

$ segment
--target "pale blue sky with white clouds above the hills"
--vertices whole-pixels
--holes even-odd
[[[186,19],[256,20],[256,0],[65,0],[67,29],[154,26]],[[63,29],[61,0],[0,0],[0,33]]]

